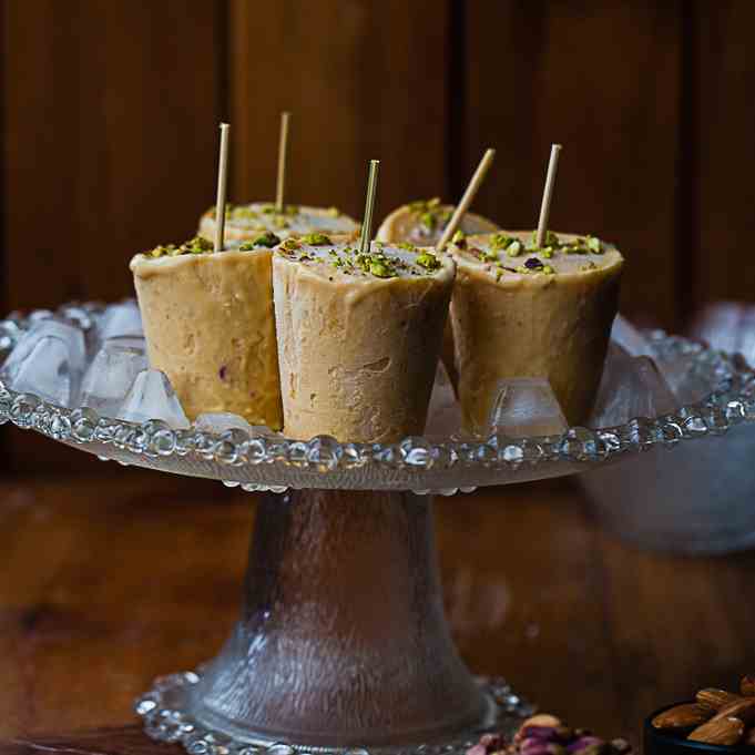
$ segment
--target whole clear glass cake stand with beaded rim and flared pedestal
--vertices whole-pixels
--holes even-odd
[[[0,322],[0,348],[40,317]],[[101,459],[262,492],[241,620],[216,659],[156,680],[136,702],[151,737],[194,755],[455,755],[532,708],[504,681],[473,677],[453,646],[432,494],[586,471],[755,420],[755,374],[743,360],[661,331],[650,338],[703,385],[703,398],[560,436],[366,445],[176,431],[62,408],[2,382],[0,424]]]

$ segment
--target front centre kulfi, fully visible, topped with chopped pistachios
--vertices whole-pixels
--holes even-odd
[[[419,435],[455,264],[432,249],[284,242],[273,256],[284,431],[384,442]]]

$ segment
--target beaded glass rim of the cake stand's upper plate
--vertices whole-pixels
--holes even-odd
[[[101,304],[69,304],[55,313],[35,310],[25,317],[11,316],[0,320],[0,358],[20,335],[34,323],[63,317],[86,330],[102,314]],[[247,491],[283,492],[288,486],[278,484],[280,476],[292,470],[306,470],[322,479],[334,473],[364,476],[373,470],[405,475],[427,471],[461,471],[484,469],[511,475],[522,466],[544,462],[589,467],[630,452],[645,451],[655,446],[671,448],[687,439],[723,435],[742,422],[755,421],[755,370],[737,355],[727,355],[702,344],[663,330],[646,334],[656,355],[665,360],[690,360],[710,386],[711,392],[698,402],[653,419],[635,418],[624,425],[588,429],[572,427],[558,436],[511,438],[493,433],[481,439],[450,437],[438,441],[408,437],[396,443],[338,442],[329,436],[309,440],[293,440],[273,431],[249,435],[242,429],[213,433],[192,427],[173,430],[164,421],[143,424],[102,417],[89,408],[68,409],[42,400],[33,394],[19,394],[0,381],[0,425],[12,422],[21,429],[32,429],[54,440],[73,446],[96,443],[102,451],[108,446],[118,450],[121,463],[160,467],[161,459],[182,457],[198,465],[213,462],[228,468],[218,477],[228,487]],[[102,448],[105,447],[105,448]],[[109,457],[100,452],[100,458]],[[233,468],[267,468],[263,482],[234,479]],[[574,469],[570,469],[574,471]],[[243,475],[238,476],[239,478]],[[259,478],[259,472],[255,475]],[[268,482],[269,480],[269,482]],[[491,482],[494,482],[491,479]],[[501,480],[503,481],[503,480]],[[312,487],[317,487],[316,484]],[[411,484],[404,486],[410,489]],[[452,494],[470,492],[473,487],[414,489],[414,492]]]

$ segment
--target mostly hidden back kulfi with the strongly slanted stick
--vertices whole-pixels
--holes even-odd
[[[389,244],[409,242],[420,246],[433,246],[440,241],[453,206],[440,204],[439,198],[411,202],[394,210],[378,228],[377,239]],[[468,234],[493,233],[498,226],[481,215],[467,213],[461,221],[461,231]]]

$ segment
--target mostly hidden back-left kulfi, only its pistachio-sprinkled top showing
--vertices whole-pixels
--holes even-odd
[[[246,241],[263,233],[274,233],[280,238],[309,233],[355,237],[358,232],[359,224],[336,207],[286,205],[278,213],[269,202],[225,206],[226,241]],[[215,238],[215,207],[202,215],[197,233],[204,238]]]

